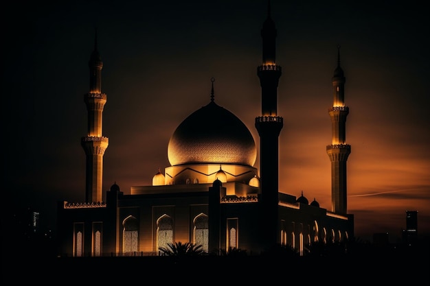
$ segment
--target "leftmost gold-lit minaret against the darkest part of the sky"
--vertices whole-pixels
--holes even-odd
[[[82,137],[81,145],[87,155],[85,202],[102,202],[103,156],[109,139],[102,136],[102,116],[106,94],[102,93],[103,62],[97,50],[97,33],[94,51],[89,65],[89,93],[84,95],[88,111],[88,134]]]

